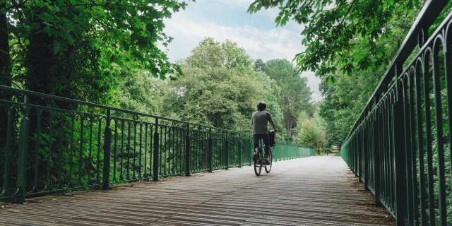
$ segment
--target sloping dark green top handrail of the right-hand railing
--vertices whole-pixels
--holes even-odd
[[[433,3],[434,1],[434,3]],[[410,31],[408,32],[408,35],[405,37],[405,40],[403,40],[402,44],[400,45],[396,57],[393,58],[391,61],[390,66],[388,67],[388,70],[383,75],[383,78],[381,78],[381,81],[379,82],[379,85],[376,86],[376,89],[374,90],[374,93],[369,97],[369,100],[367,101],[366,106],[364,109],[362,109],[361,114],[359,114],[358,119],[353,124],[352,128],[350,129],[350,132],[347,134],[347,137],[345,138],[345,141],[347,141],[348,138],[350,138],[350,135],[352,131],[355,130],[356,126],[359,124],[359,120],[362,119],[364,114],[367,112],[367,110],[371,109],[371,106],[375,102],[375,97],[380,95],[381,92],[383,92],[383,88],[385,86],[388,86],[389,83],[393,80],[395,76],[397,76],[397,73],[400,71],[403,71],[403,69],[398,69],[398,66],[402,66],[403,62],[410,57],[410,54],[412,53],[412,50],[415,49],[416,45],[418,45],[418,29],[422,28],[429,28],[433,23],[434,20],[439,16],[441,11],[446,7],[448,4],[448,0],[428,0],[425,2],[424,6],[422,7],[422,10],[419,13],[419,16],[417,16],[415,23],[412,24]],[[424,32],[428,32],[428,29],[424,30]],[[425,38],[424,33],[424,37]],[[427,40],[424,40],[424,42],[427,42]],[[376,103],[376,102],[375,102]],[[365,117],[365,116],[364,116]]]

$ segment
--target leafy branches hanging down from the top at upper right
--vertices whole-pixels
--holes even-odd
[[[396,19],[412,23],[412,12],[419,11],[423,2],[255,0],[248,11],[256,13],[262,8],[279,7],[275,18],[277,26],[286,25],[290,19],[302,25],[302,44],[307,49],[295,57],[299,70],[315,71],[317,76],[328,78],[338,69],[351,73],[354,69],[385,64],[387,49],[379,46],[379,42],[400,42],[392,39],[398,28],[390,22]],[[355,42],[356,39],[359,42]]]

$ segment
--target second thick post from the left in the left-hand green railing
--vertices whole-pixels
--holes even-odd
[[[112,128],[110,124],[112,122],[112,112],[107,109],[107,125],[105,126],[105,142],[104,142],[104,171],[103,179],[104,183],[102,186],[103,190],[110,189],[110,155],[112,153]]]

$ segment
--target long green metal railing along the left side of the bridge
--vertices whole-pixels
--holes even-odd
[[[251,165],[252,138],[0,86],[0,201]],[[7,95],[6,95],[7,94]],[[279,141],[278,160],[314,155]]]

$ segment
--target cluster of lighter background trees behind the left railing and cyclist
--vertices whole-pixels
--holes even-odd
[[[278,62],[283,66],[275,64]],[[299,114],[313,114],[306,78],[300,77],[285,59],[254,61],[236,43],[216,42],[207,37],[179,64],[184,76],[177,81],[160,83],[150,93],[162,94],[153,98],[165,103],[160,106],[163,116],[249,132],[251,114],[256,111],[256,103],[263,100],[275,119],[280,138],[289,139]],[[289,92],[295,93],[297,99],[291,99]],[[138,110],[138,107],[132,109]],[[290,111],[294,122],[287,130],[286,114]]]

